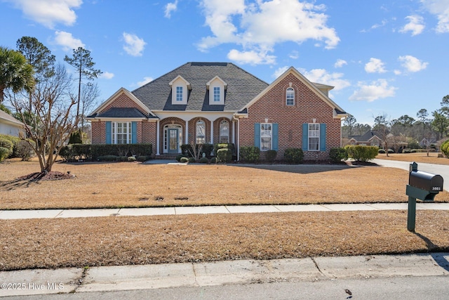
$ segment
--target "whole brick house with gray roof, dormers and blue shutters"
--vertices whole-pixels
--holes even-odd
[[[330,89],[293,67],[267,84],[232,63],[186,63],[135,91],[119,89],[87,119],[92,143],[152,143],[156,157],[194,142],[257,146],[278,159],[302,148],[304,159],[328,159],[347,116]]]

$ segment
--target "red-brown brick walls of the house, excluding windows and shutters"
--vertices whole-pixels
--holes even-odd
[[[306,80],[307,81],[307,80]],[[286,90],[293,88],[295,93],[294,105],[286,105]],[[295,72],[288,72],[282,79],[277,79],[269,90],[260,98],[256,99],[248,107],[247,117],[239,119],[239,128],[237,122],[228,117],[213,118],[213,143],[220,143],[220,123],[225,120],[229,124],[229,143],[240,142],[241,146],[255,145],[256,123],[278,124],[278,155],[276,159],[283,159],[286,148],[302,148],[302,124],[317,123],[326,124],[326,150],[325,151],[305,151],[305,160],[328,159],[330,148],[340,147],[340,118],[335,118],[332,101],[323,100],[325,96],[319,96],[315,89],[311,89],[304,79],[301,79]],[[132,95],[131,95],[132,96]],[[140,103],[142,104],[142,103]],[[100,112],[106,112],[112,107],[134,107],[145,115],[148,112],[142,109],[138,103],[130,98],[126,93],[119,93],[115,98],[109,100]],[[166,117],[159,121],[159,153],[163,154],[164,147],[164,127],[170,124],[178,125],[182,132],[181,144],[186,143],[184,119],[176,116]],[[202,112],[204,115],[204,112]],[[188,143],[196,139],[196,122],[203,120],[205,123],[206,143],[210,143],[211,122],[205,117],[192,117],[188,123]],[[120,119],[117,119],[120,122]],[[92,143],[106,143],[106,121],[104,119],[92,119]],[[234,124],[234,130],[233,130]],[[156,119],[145,119],[137,121],[137,141],[138,143],[152,143],[153,151],[156,153],[157,147],[157,122]],[[239,136],[234,136],[234,133]],[[261,152],[262,158],[264,152]]]

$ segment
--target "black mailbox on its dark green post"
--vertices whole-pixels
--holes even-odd
[[[408,195],[407,229],[415,232],[416,220],[416,200],[433,202],[434,197],[443,190],[443,177],[423,171],[418,171],[418,164],[410,164],[408,174],[408,185],[406,195]]]

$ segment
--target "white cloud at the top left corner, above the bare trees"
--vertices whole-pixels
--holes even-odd
[[[76,14],[73,8],[79,8],[82,0],[6,0],[19,8],[26,18],[52,28],[57,23],[74,25]]]

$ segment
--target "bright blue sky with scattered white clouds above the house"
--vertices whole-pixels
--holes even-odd
[[[293,66],[335,86],[359,123],[430,113],[449,94],[449,0],[0,0],[0,20],[1,46],[36,37],[61,63],[91,51],[99,101],[192,61],[268,83]]]

